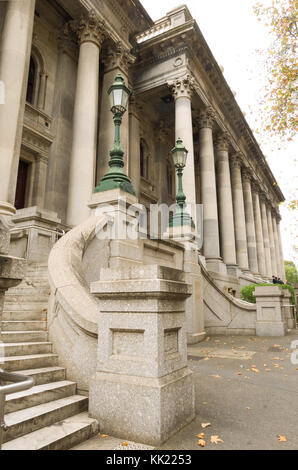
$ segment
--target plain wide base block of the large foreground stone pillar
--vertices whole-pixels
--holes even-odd
[[[160,445],[195,418],[192,372],[185,367],[161,378],[97,372],[89,413],[104,434]]]

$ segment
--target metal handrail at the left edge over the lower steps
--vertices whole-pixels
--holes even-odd
[[[33,387],[33,377],[16,374],[14,372],[5,372],[0,369],[0,381],[13,382],[9,385],[0,385],[0,450],[3,443],[3,432],[6,430],[4,421],[5,397],[11,393],[23,392]]]

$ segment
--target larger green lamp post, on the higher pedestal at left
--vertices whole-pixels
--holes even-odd
[[[122,117],[126,112],[128,99],[131,92],[125,86],[124,79],[121,74],[118,74],[115,78],[114,83],[108,90],[110,97],[111,112],[113,113],[113,119],[115,124],[115,139],[114,146],[110,151],[109,171],[100,181],[99,185],[95,188],[95,193],[101,193],[103,191],[110,191],[111,189],[122,189],[123,191],[136,195],[136,192],[131,184],[130,179],[124,173],[124,152],[121,148],[120,143],[120,126],[122,123]]]

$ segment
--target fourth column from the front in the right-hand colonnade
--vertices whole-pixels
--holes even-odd
[[[231,181],[234,209],[237,264],[242,271],[249,271],[244,195],[241,177],[240,155],[231,158]]]

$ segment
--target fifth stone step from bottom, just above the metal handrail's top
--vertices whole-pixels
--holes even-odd
[[[7,372],[35,369],[58,365],[57,354],[33,354],[32,356],[13,356],[2,359],[1,368]]]

